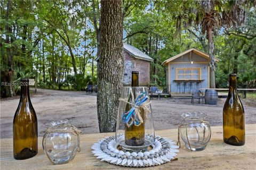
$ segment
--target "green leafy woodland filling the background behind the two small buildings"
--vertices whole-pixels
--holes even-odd
[[[97,0],[1,1],[1,82],[35,77],[42,88],[74,90],[96,84],[100,10]],[[123,0],[123,42],[154,59],[151,85],[164,86],[164,60],[195,47],[221,59],[210,64],[216,87],[227,87],[231,72],[242,86],[256,79],[255,18],[255,1]],[[18,92],[1,83],[1,97]]]

